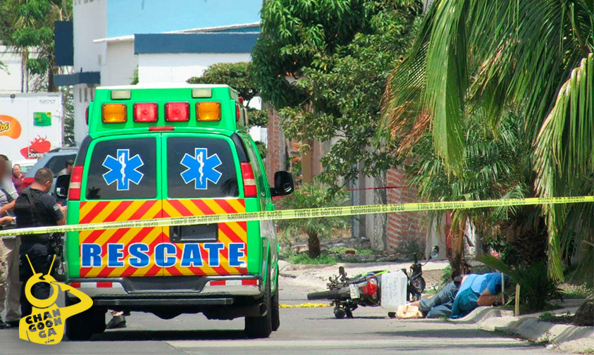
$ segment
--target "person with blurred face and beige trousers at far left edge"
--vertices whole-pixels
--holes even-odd
[[[3,229],[16,227],[13,224],[13,208],[18,194],[11,179],[9,164],[6,156],[0,155],[0,218],[6,221]],[[15,235],[0,237],[0,313],[6,309],[4,321],[0,319],[0,328],[18,327],[20,320],[19,247],[20,239]]]

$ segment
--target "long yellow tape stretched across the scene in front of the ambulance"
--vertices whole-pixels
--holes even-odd
[[[75,225],[56,225],[51,227],[19,228],[0,230],[0,237],[4,235],[33,235],[43,233],[75,232],[87,230],[110,230],[120,228],[147,228],[168,227],[171,225],[199,225],[210,223],[226,223],[250,220],[289,220],[300,218],[323,218],[340,216],[358,216],[377,213],[400,213],[413,211],[439,211],[451,209],[502,207],[502,206],[528,206],[538,204],[576,204],[594,202],[594,196],[581,197],[552,197],[541,199],[500,199],[476,201],[443,201],[424,202],[414,204],[383,204],[364,206],[342,206],[326,208],[304,208],[278,211],[261,211],[247,213],[228,213],[203,216],[188,216],[175,218],[156,218],[153,220],[127,220],[122,222],[87,223]]]

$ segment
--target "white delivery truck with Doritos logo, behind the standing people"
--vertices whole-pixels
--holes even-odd
[[[62,147],[62,94],[54,92],[0,95],[0,154],[14,163],[32,165]]]

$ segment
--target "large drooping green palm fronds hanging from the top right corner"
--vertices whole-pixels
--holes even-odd
[[[410,151],[428,130],[447,173],[465,156],[464,121],[484,110],[497,132],[507,108],[521,108],[540,197],[594,194],[594,2],[436,0],[385,94],[385,137]],[[548,268],[582,249],[593,280],[593,204],[543,206]],[[585,273],[585,274],[584,274]]]

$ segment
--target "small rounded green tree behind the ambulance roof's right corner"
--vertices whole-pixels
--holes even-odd
[[[190,84],[226,84],[237,90],[237,94],[243,97],[247,106],[249,125],[268,125],[268,116],[265,110],[256,110],[249,107],[249,101],[258,96],[254,70],[252,63],[218,63],[204,70],[199,77],[190,77],[187,80]]]

